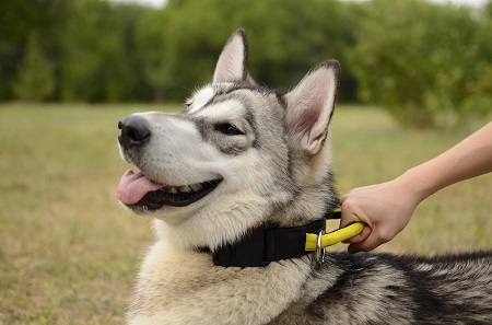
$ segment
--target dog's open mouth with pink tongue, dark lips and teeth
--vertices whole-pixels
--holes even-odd
[[[145,210],[159,210],[164,206],[186,207],[202,199],[215,189],[221,181],[167,186],[149,179],[142,173],[136,174],[128,170],[119,182],[117,197],[127,206]]]

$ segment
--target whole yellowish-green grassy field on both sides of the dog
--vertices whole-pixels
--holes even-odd
[[[116,125],[131,112],[161,108],[0,105],[0,324],[124,322],[152,231],[115,198],[127,169]],[[380,111],[341,106],[332,126],[340,194],[395,177],[483,124],[402,130]],[[492,247],[491,194],[492,175],[436,194],[378,251]]]

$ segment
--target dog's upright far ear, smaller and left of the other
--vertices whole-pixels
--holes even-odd
[[[244,30],[236,31],[225,44],[213,73],[213,82],[249,81],[248,42]]]

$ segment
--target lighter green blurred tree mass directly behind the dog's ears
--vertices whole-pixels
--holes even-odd
[[[183,98],[210,81],[225,40],[244,27],[253,77],[285,86],[323,60],[344,65],[345,49],[354,40],[351,22],[356,19],[347,7],[332,0],[169,0],[164,9],[141,18],[139,57],[156,98]],[[342,86],[344,97],[353,98],[350,72],[343,81],[349,81]]]

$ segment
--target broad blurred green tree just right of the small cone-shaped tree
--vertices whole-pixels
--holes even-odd
[[[134,23],[143,11],[138,5],[99,0],[73,2],[73,14],[63,37],[61,97],[65,101],[117,102],[145,97],[133,44]]]

